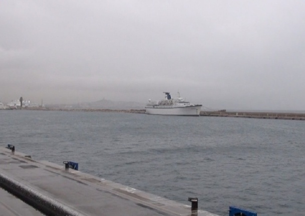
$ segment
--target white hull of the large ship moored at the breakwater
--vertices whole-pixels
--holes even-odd
[[[151,115],[183,115],[199,116],[201,105],[185,107],[146,107],[146,113]]]

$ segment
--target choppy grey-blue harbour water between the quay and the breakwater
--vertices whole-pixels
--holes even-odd
[[[305,215],[304,121],[4,110],[0,144],[220,215]]]

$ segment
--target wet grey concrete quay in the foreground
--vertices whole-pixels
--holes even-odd
[[[200,210],[200,200],[199,209],[192,212],[190,205],[4,147],[0,147],[0,187],[29,204],[16,204],[20,200],[0,188],[0,215],[41,215],[35,210],[39,209],[46,215],[217,216]]]

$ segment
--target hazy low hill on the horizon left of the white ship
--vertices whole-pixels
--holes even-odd
[[[94,102],[84,102],[78,104],[50,104],[49,108],[71,108],[71,109],[144,109],[145,104],[133,101],[111,101],[99,100]]]

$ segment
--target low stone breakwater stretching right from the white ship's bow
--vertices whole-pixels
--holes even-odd
[[[305,113],[201,111],[200,116],[305,120]]]

